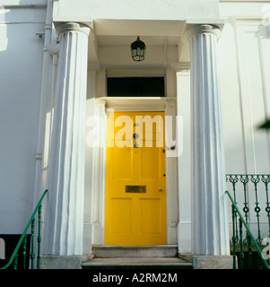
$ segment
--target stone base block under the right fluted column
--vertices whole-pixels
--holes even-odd
[[[232,269],[231,256],[193,256],[194,269]]]

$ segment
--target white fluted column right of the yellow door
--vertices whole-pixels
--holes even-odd
[[[222,109],[216,63],[216,43],[220,30],[212,25],[197,25],[189,30],[189,35],[192,253],[194,256],[208,256],[208,260],[209,256],[213,259],[213,256],[230,255],[224,196]],[[198,268],[204,267],[202,262],[196,263]],[[218,268],[217,262],[220,259],[213,263],[213,268]],[[222,268],[226,267],[226,263],[222,264]],[[211,268],[209,262],[207,265]]]

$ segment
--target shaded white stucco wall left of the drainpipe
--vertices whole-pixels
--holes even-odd
[[[0,4],[0,234],[13,234],[32,211],[46,9]]]

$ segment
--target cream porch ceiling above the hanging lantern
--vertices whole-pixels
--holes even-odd
[[[186,22],[157,20],[94,20],[89,59],[99,62],[100,47],[129,47],[137,36],[147,47],[179,46]]]

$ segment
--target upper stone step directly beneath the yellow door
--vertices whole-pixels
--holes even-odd
[[[118,257],[178,257],[177,245],[158,246],[101,246],[93,245],[95,258]]]

